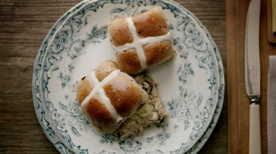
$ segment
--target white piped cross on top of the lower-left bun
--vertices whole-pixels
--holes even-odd
[[[120,122],[121,119],[123,119],[123,118],[121,117],[121,115],[119,115],[117,113],[116,109],[112,106],[112,104],[110,102],[110,99],[106,96],[106,93],[103,90],[103,86],[105,84],[107,84],[108,81],[110,81],[111,79],[113,79],[114,77],[116,77],[119,72],[120,72],[120,70],[114,70],[114,71],[112,71],[112,73],[110,73],[101,82],[99,82],[99,80],[97,79],[94,71],[92,71],[91,73],[89,73],[88,74],[88,80],[93,84],[94,88],[90,92],[90,94],[83,100],[83,102],[81,102],[81,108],[84,108],[86,106],[86,104],[89,102],[89,100],[93,96],[99,95],[99,97],[101,99],[101,102],[104,104],[104,106],[106,106],[107,110],[112,115],[112,117],[114,117],[116,119],[116,122]]]

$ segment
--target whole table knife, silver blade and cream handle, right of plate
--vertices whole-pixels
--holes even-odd
[[[262,153],[259,117],[261,67],[259,62],[260,0],[251,0],[246,20],[245,77],[246,93],[250,98],[249,154]]]

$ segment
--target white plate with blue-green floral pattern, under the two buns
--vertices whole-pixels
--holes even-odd
[[[150,69],[170,117],[133,139],[118,140],[90,126],[75,97],[77,81],[114,58],[107,24],[152,7],[163,8],[177,57]],[[173,1],[82,1],[43,41],[34,63],[34,108],[61,153],[196,153],[213,131],[224,99],[217,46],[198,19]]]

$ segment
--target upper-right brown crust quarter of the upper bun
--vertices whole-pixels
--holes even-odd
[[[143,37],[157,37],[168,32],[168,25],[161,8],[152,8],[148,12],[143,12],[132,21],[136,27],[137,35]]]

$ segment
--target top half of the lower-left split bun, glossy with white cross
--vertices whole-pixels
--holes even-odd
[[[119,71],[112,60],[99,64],[77,84],[79,105],[101,132],[116,131],[148,99],[135,79]]]

